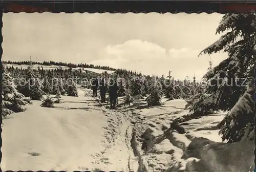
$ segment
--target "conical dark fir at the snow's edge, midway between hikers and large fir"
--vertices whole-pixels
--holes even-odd
[[[156,78],[156,77],[153,77]],[[150,86],[151,87],[151,93],[146,98],[146,102],[148,106],[155,106],[155,105],[162,105],[162,88],[161,84],[157,83],[156,79],[154,79],[155,82]]]

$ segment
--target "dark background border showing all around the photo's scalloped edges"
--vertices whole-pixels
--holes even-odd
[[[32,4],[31,4],[32,3]],[[135,4],[137,3],[137,6]],[[194,4],[193,4],[194,3]],[[197,3],[197,5],[195,5]],[[48,6],[51,4],[52,9],[49,7],[40,7],[41,5],[46,5]],[[57,6],[55,6],[57,4]],[[62,4],[62,9],[56,9],[58,6],[61,7]],[[63,4],[66,4],[66,9]],[[72,7],[70,7],[70,4]],[[81,4],[87,5],[82,7]],[[93,5],[92,5],[93,4]],[[126,6],[125,6],[126,4]],[[129,4],[129,5],[128,5]],[[165,4],[165,5],[164,5]],[[180,5],[179,5],[180,4]],[[182,4],[182,5],[181,5]],[[192,5],[193,4],[193,5]],[[150,8],[146,8],[146,6],[151,6]],[[161,5],[161,7],[156,6],[156,5]],[[174,6],[170,6],[174,5]],[[205,5],[198,7],[198,5]],[[68,7],[69,6],[69,7]],[[75,8],[75,6],[77,8]],[[214,6],[214,7],[211,7]],[[178,7],[178,8],[177,8]],[[180,7],[180,8],[179,8]],[[218,9],[219,7],[219,9]],[[73,11],[70,10],[70,8],[73,8]],[[80,9],[79,9],[80,8]],[[202,9],[201,9],[202,8]],[[67,11],[67,9],[69,9]],[[200,10],[201,9],[201,10]],[[3,66],[2,66],[2,55],[3,55],[3,48],[2,48],[2,43],[3,43],[3,35],[2,35],[2,28],[3,28],[3,13],[8,13],[8,12],[13,12],[13,13],[19,13],[19,12],[26,12],[26,13],[42,13],[42,12],[51,12],[51,13],[151,13],[151,12],[157,12],[157,13],[220,13],[220,14],[225,14],[228,12],[232,13],[247,13],[247,12],[255,12],[256,11],[256,2],[255,1],[57,1],[54,2],[52,1],[45,1],[45,2],[38,2],[38,1],[32,1],[32,2],[21,2],[21,1],[2,1],[1,2],[1,48],[0,48],[0,58],[1,58],[1,64],[0,64],[0,69],[1,69],[1,74],[0,74],[0,90],[1,93],[3,91],[2,88],[2,79],[3,79]],[[256,61],[254,65],[254,76],[256,76]],[[254,81],[254,84],[256,85],[256,78]],[[0,103],[2,104],[2,96],[0,96]],[[256,91],[254,93],[254,108],[256,109]],[[0,133],[1,133],[1,143],[0,147],[2,148],[2,108],[0,108],[1,112],[1,127],[0,127]],[[256,116],[254,118],[254,124],[256,123]],[[256,134],[256,126],[254,126],[254,133]],[[255,149],[254,149],[254,164],[256,165],[256,136],[254,138],[254,144],[255,144]],[[1,150],[1,155],[0,159],[2,159],[2,150]],[[0,171],[2,171],[1,166],[0,166]],[[22,170],[19,170],[22,171]],[[31,170],[30,170],[31,171]],[[39,170],[41,171],[41,170]],[[41,171],[43,172],[43,171]],[[62,172],[62,171],[61,171]],[[63,171],[65,172],[65,171]],[[256,172],[256,167],[254,168],[254,172]]]

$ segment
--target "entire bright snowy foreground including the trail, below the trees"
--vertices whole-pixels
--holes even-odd
[[[184,100],[146,107],[138,100],[117,110],[96,98],[62,96],[53,108],[33,101],[2,124],[2,170],[178,171],[184,170],[183,150],[194,137],[221,141],[216,128],[224,114],[170,123],[187,115]],[[121,104],[123,97],[118,102]]]

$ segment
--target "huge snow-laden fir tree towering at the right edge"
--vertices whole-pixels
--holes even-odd
[[[225,14],[217,28],[217,33],[224,34],[200,53],[228,53],[225,60],[204,75],[208,81],[205,93],[210,96],[201,103],[201,107],[209,111],[228,111],[219,124],[222,139],[228,142],[240,141],[248,122],[255,116],[255,88],[250,83],[254,79],[255,28],[254,13]],[[245,80],[249,82],[246,87],[243,84]]]

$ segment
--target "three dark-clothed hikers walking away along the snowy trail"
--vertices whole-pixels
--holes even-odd
[[[93,90],[93,97],[97,97],[97,90],[99,88],[100,91],[100,102],[104,103],[106,101],[106,92],[108,91],[108,87],[105,83],[104,78],[101,78],[100,81],[94,78],[92,80],[92,90]],[[109,99],[110,99],[110,109],[115,109],[116,101],[118,97],[118,85],[116,79],[112,79],[109,84]]]

